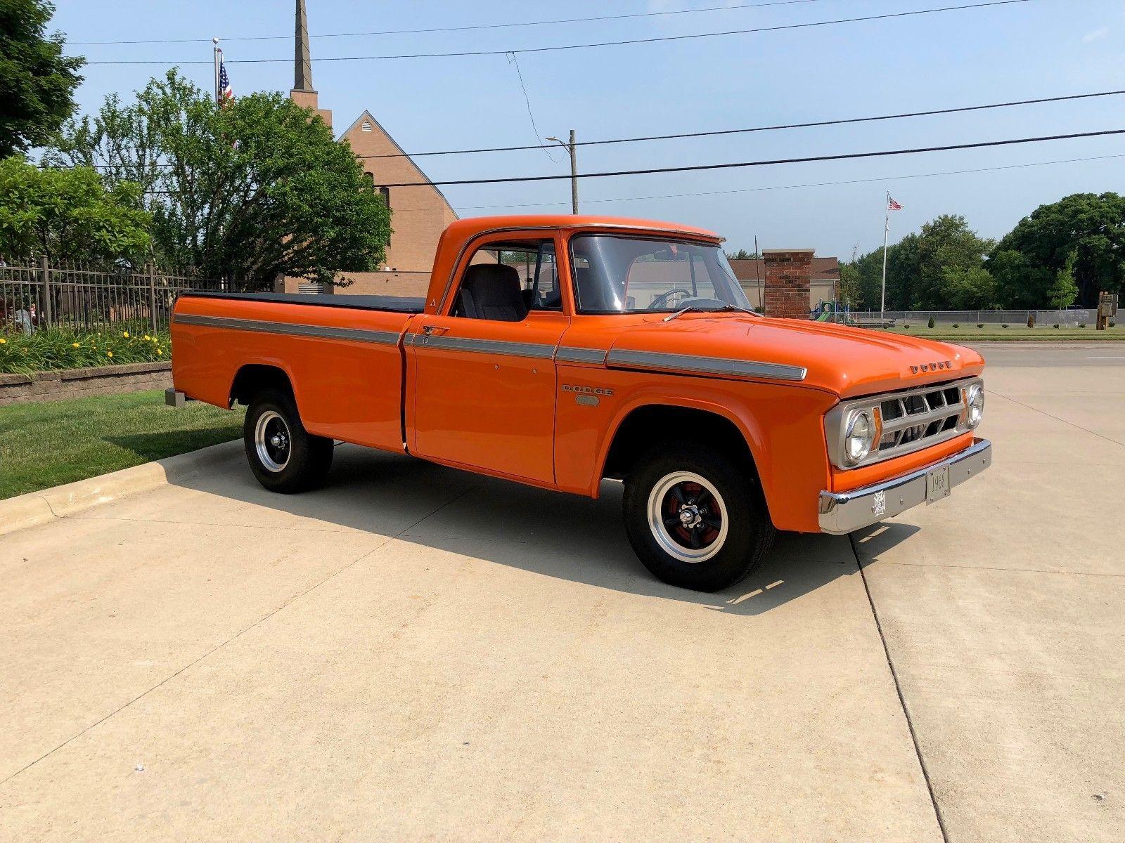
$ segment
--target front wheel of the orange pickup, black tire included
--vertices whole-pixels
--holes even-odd
[[[773,545],[773,522],[753,469],[708,445],[662,443],[638,460],[624,487],[629,543],[645,568],[672,586],[728,588]]]

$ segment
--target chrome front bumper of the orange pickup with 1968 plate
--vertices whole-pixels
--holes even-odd
[[[976,439],[964,451],[902,477],[846,492],[820,492],[820,529],[843,535],[891,518],[926,502],[926,475],[950,466],[950,487],[965,482],[992,464],[992,443]]]

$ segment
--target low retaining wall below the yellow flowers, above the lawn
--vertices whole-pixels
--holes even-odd
[[[119,366],[64,369],[32,374],[0,374],[0,407],[29,401],[141,392],[172,386],[172,364],[125,363]]]

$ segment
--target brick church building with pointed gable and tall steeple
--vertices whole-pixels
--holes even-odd
[[[313,88],[313,63],[309,55],[308,24],[305,0],[297,0],[294,53],[294,84],[289,97],[298,106],[315,111],[331,127],[332,111],[322,109]],[[367,178],[380,184],[429,182],[422,169],[387,133],[370,111],[363,111],[340,136],[351,144]],[[321,289],[304,279],[286,278],[278,291],[334,292],[339,294],[423,296],[430,283],[430,269],[442,230],[457,219],[457,212],[433,184],[414,188],[379,188],[392,210],[394,234],[384,266],[378,272],[349,272],[353,283],[348,287]]]

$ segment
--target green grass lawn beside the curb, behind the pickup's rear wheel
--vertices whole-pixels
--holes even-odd
[[[162,390],[0,407],[0,498],[236,439],[242,417]]]

